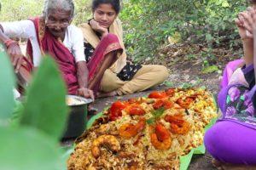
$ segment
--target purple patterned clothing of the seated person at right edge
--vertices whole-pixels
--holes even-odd
[[[250,65],[236,70],[241,62],[241,59],[232,61],[224,70],[222,89],[218,94],[218,105],[223,116],[207,131],[204,143],[207,151],[219,161],[256,165],[256,118],[253,104],[256,86],[255,82],[248,83],[245,78],[254,69]],[[255,79],[254,75],[252,78]]]

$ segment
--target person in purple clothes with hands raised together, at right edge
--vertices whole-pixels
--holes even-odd
[[[218,94],[223,116],[207,131],[205,145],[218,169],[256,169],[255,8],[239,14],[236,26],[245,56],[225,69]]]

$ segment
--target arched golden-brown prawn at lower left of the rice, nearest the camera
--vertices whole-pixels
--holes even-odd
[[[95,139],[91,146],[91,154],[95,158],[101,156],[101,147],[107,146],[109,150],[119,151],[120,144],[118,139],[116,139],[113,135],[104,134]]]

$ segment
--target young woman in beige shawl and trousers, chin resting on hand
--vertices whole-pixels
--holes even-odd
[[[135,65],[126,59],[122,26],[117,18],[119,10],[119,0],[93,0],[93,18],[80,26],[84,34],[84,54],[87,62],[108,33],[119,37],[124,48],[119,59],[105,71],[99,97],[133,94],[160,84],[168,77],[168,71],[163,65]]]

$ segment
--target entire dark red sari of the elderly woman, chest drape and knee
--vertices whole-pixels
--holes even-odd
[[[45,21],[41,17],[32,19],[35,25],[38,44],[42,51],[42,54],[50,54],[59,65],[61,73],[63,75],[64,81],[67,84],[68,94],[77,94],[79,88],[79,82],[77,78],[77,68],[73,54],[59,42],[55,37],[53,37],[47,27],[45,26]],[[102,38],[102,41],[97,46],[92,59],[88,63],[89,78],[88,81],[93,79],[94,75],[101,66],[101,63],[105,56],[115,50],[122,49],[118,37],[113,34],[108,34],[108,36]],[[31,42],[27,42],[27,54],[32,61],[32,45]],[[93,87],[93,91],[96,94],[100,87],[100,82],[96,83],[96,87]]]

